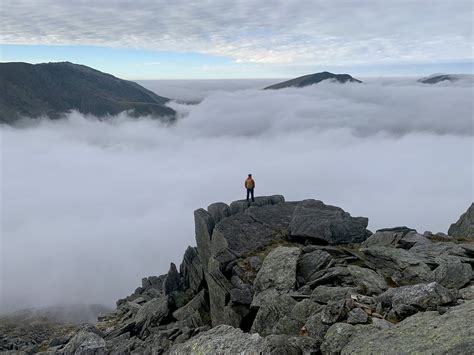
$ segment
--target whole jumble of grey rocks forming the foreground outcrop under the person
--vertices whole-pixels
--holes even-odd
[[[144,278],[95,327],[23,350],[472,353],[473,214],[471,205],[450,235],[372,234],[367,218],[321,201],[215,203],[195,211],[197,247],[179,269]]]

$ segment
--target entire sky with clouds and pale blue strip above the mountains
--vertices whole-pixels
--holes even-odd
[[[2,0],[1,61],[125,79],[472,73],[471,0]]]

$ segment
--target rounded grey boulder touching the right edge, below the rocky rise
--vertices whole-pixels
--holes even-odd
[[[472,267],[457,257],[446,257],[433,270],[432,280],[447,288],[459,289],[472,279]]]

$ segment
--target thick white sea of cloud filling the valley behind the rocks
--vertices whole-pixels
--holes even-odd
[[[242,198],[247,173],[257,195],[320,199],[372,230],[446,232],[473,200],[472,85],[154,85],[202,101],[172,102],[173,126],[71,113],[0,127],[0,310],[112,305],[180,263],[193,210]]]

